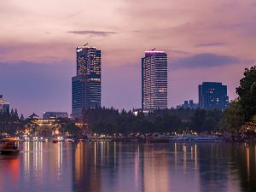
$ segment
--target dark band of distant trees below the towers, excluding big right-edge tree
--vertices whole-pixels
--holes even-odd
[[[222,112],[202,109],[167,109],[137,116],[113,108],[96,108],[84,111],[89,129],[101,134],[172,133],[182,131],[218,131]]]

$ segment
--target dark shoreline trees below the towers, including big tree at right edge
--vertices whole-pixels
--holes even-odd
[[[88,109],[84,118],[96,133],[173,133],[184,131],[229,132],[256,131],[256,66],[246,68],[236,88],[237,98],[230,106],[217,109],[166,109],[138,113],[113,108]]]

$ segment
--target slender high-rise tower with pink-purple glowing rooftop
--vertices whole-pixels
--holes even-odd
[[[142,108],[167,108],[167,55],[164,51],[145,51],[142,59]]]

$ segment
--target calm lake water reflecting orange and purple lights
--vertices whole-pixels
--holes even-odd
[[[20,143],[0,155],[0,191],[256,191],[256,146]]]

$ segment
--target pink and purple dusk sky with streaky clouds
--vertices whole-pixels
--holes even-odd
[[[256,61],[255,0],[0,1],[0,94],[25,116],[71,112],[75,48],[102,50],[102,106],[141,107],[141,58],[168,55],[168,106],[198,102],[198,84],[230,100]]]

